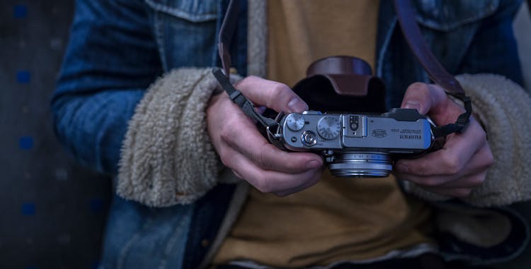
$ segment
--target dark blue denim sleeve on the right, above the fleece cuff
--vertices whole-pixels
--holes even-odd
[[[513,18],[521,0],[501,0],[474,35],[457,73],[496,73],[523,85],[523,74],[513,32]]]

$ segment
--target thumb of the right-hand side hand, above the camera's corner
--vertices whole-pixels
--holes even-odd
[[[401,107],[428,114],[438,125],[454,123],[464,112],[464,108],[447,97],[439,85],[426,83],[411,84],[404,94]]]

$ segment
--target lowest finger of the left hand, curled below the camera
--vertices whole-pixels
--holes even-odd
[[[299,174],[263,170],[241,154],[233,155],[230,165],[234,167],[235,174],[263,193],[282,193],[286,190],[302,189],[302,186],[312,186],[319,181],[321,174],[320,169]]]

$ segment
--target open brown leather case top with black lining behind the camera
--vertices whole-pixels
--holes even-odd
[[[385,87],[367,62],[353,56],[319,59],[293,90],[321,112],[385,112]]]

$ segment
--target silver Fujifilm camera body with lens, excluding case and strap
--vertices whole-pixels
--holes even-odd
[[[393,157],[421,155],[434,141],[429,119],[416,109],[379,115],[291,113],[271,135],[288,150],[321,153],[336,177],[387,177]]]

